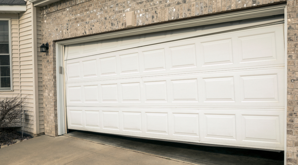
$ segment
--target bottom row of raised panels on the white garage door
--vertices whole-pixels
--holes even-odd
[[[282,149],[284,111],[67,107],[69,129],[230,146]]]

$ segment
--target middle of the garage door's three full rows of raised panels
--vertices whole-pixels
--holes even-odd
[[[284,106],[284,69],[66,84],[67,105]]]

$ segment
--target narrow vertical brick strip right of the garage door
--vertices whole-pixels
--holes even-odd
[[[298,164],[298,1],[287,1],[288,112],[287,165]]]

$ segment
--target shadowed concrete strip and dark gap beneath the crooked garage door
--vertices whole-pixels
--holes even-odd
[[[190,145],[75,130],[68,134],[64,134],[64,136],[187,164],[284,164],[284,154],[271,151]]]

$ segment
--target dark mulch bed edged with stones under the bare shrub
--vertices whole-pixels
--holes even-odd
[[[19,134],[17,131],[11,129],[11,130],[4,130],[0,132],[0,148],[7,147],[9,145],[13,145],[18,142],[22,142],[27,139],[31,139],[30,136],[25,136],[22,134]]]

